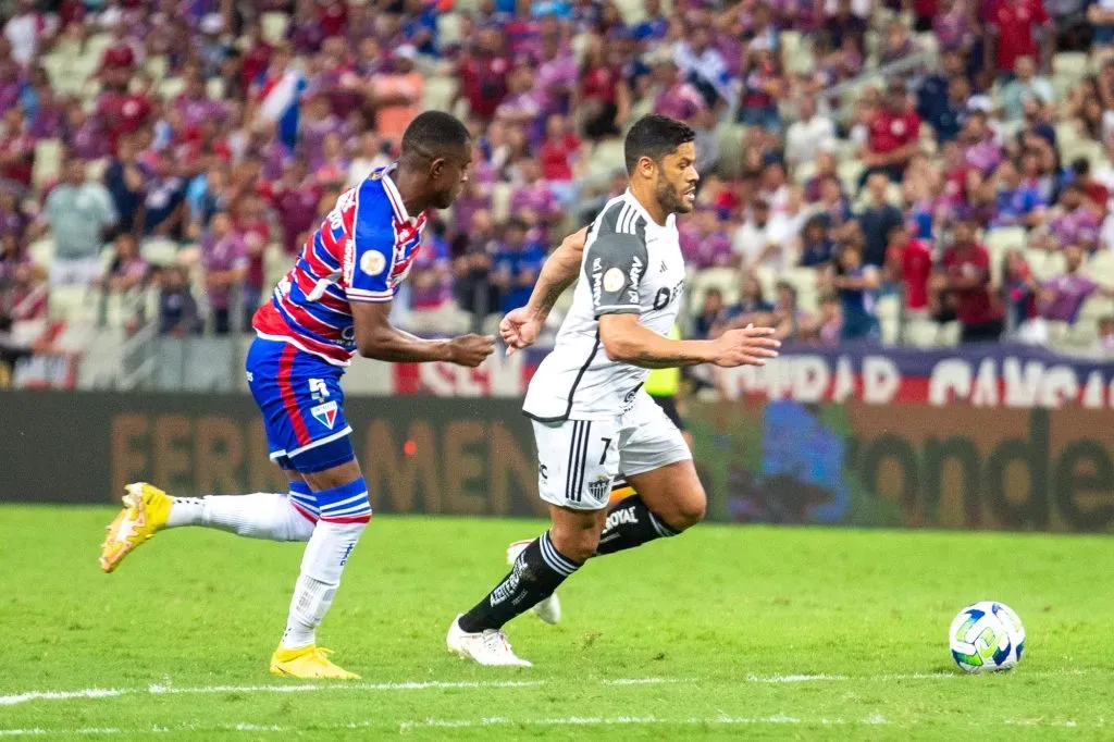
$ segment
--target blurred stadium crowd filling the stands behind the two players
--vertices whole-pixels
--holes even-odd
[[[1108,0],[2,4],[0,353],[246,330],[428,107],[477,146],[413,331],[521,305],[657,111],[697,131],[691,334],[1114,352]]]

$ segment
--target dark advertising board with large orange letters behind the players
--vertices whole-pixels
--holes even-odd
[[[517,400],[353,398],[381,512],[544,515]],[[1108,411],[697,403],[695,460],[716,520],[1114,530]],[[177,495],[285,491],[244,394],[0,392],[0,500],[111,502],[149,479]]]

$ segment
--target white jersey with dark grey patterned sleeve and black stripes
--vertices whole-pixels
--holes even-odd
[[[629,409],[649,371],[607,358],[598,319],[637,313],[668,334],[685,280],[675,217],[655,223],[629,191],[613,198],[588,230],[580,270],[557,343],[526,393],[522,410],[535,420],[606,419]]]

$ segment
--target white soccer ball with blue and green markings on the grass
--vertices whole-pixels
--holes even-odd
[[[983,601],[959,612],[948,632],[951,657],[968,673],[1009,670],[1025,651],[1025,627],[1001,603]]]

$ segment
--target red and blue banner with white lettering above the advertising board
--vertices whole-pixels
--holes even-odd
[[[397,394],[521,397],[549,349],[494,355],[479,369],[449,363],[382,367]],[[1029,345],[968,345],[937,350],[790,346],[764,368],[695,369],[731,398],[799,402],[925,402],[1056,409],[1114,409],[1114,361],[1073,359]]]

